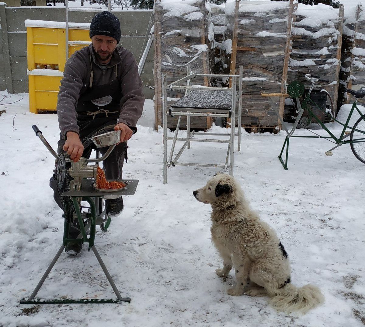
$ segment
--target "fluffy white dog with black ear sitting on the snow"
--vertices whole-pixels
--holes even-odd
[[[290,263],[275,231],[260,220],[243,196],[235,179],[216,174],[195,198],[212,206],[212,242],[223,258],[219,277],[234,266],[236,286],[230,295],[269,296],[270,304],[284,312],[306,313],[324,301],[314,285],[297,288],[291,283]]]

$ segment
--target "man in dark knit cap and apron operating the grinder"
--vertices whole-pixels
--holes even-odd
[[[145,101],[135,58],[130,51],[116,47],[120,35],[119,19],[111,12],[100,12],[92,19],[92,44],[66,62],[57,101],[58,153],[67,152],[74,162],[90,156],[91,148],[84,149],[81,140],[101,126],[115,124],[114,130],[121,131],[120,143],[103,161],[106,178],[114,180],[122,179],[127,141],[137,132],[135,125]],[[50,184],[55,190],[54,180]],[[123,199],[107,200],[106,209],[109,217],[118,216]]]

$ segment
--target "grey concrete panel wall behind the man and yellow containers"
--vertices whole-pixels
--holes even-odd
[[[146,11],[113,11],[121,25],[120,44],[130,50],[136,60],[141,51],[151,10]],[[69,21],[89,23],[95,13],[69,12]],[[0,90],[8,89],[9,93],[28,92],[27,76],[27,32],[24,20],[65,21],[65,8],[62,7],[6,7],[0,5]],[[154,85],[153,80],[153,46],[147,57],[141,74],[144,85]],[[153,98],[153,90],[145,87],[146,98]]]

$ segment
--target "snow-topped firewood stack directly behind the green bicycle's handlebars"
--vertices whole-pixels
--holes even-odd
[[[343,29],[343,5],[334,9],[328,5],[299,4],[293,13],[292,51],[288,83],[299,80],[310,84],[305,74],[320,76],[329,81],[321,87],[333,99],[333,115],[337,114],[339,69]],[[331,108],[330,100],[327,106]]]

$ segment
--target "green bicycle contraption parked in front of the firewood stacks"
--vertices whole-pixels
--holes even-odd
[[[333,154],[332,150],[334,150],[335,148],[338,148],[339,146],[341,146],[343,144],[350,144],[351,150],[354,153],[355,157],[358,160],[360,160],[362,163],[365,163],[365,117],[364,117],[364,114],[362,114],[361,111],[357,107],[357,100],[359,98],[364,98],[365,97],[365,90],[360,89],[360,90],[354,91],[354,90],[346,89],[346,92],[349,92],[356,99],[353,102],[353,105],[351,107],[349,116],[346,119],[346,122],[342,123],[342,122],[338,121],[337,119],[335,119],[334,117],[332,117],[332,115],[327,113],[325,110],[321,109],[320,106],[318,106],[318,104],[316,104],[310,98],[311,92],[312,92],[313,88],[315,87],[316,83],[318,83],[318,82],[328,83],[328,81],[324,80],[324,79],[321,79],[318,76],[314,76],[314,75],[310,75],[310,74],[306,74],[305,77],[306,77],[307,80],[311,81],[311,86],[310,86],[310,89],[307,92],[307,94],[304,94],[304,92],[305,92],[304,84],[301,83],[300,81],[293,81],[287,86],[287,93],[291,98],[296,99],[297,109],[299,110],[298,116],[296,117],[294,125],[292,127],[292,130],[290,132],[288,131],[288,129],[284,125],[283,120],[281,119],[280,115],[278,115],[279,119],[281,120],[281,123],[282,123],[282,126],[283,126],[284,130],[287,132],[287,136],[285,137],[283,147],[281,149],[280,155],[278,156],[278,158],[279,158],[281,164],[283,165],[284,169],[288,170],[289,139],[291,137],[331,139],[332,142],[334,142],[336,144],[336,146],[333,147],[332,149],[326,151],[327,156],[331,156]],[[327,92],[326,90],[322,90],[322,91]],[[299,98],[303,94],[304,94],[304,100],[300,103]],[[322,122],[322,119],[320,119],[314,113],[314,109],[313,109],[314,107],[316,107],[317,110],[319,109],[319,110],[324,111],[324,114],[329,115],[330,118],[333,119],[333,121],[335,121],[335,122],[337,122],[337,123],[339,123],[340,125],[343,126],[341,135],[339,137],[336,137],[326,127],[326,125],[324,125],[324,123]],[[356,123],[354,124],[353,127],[350,127],[349,126],[350,118],[351,118],[351,116],[352,116],[355,109],[360,114],[360,118],[356,121]],[[318,123],[318,125],[320,125],[328,133],[329,136],[320,136],[318,134],[316,134],[316,136],[299,136],[299,135],[297,136],[297,135],[293,135],[293,133],[296,130],[299,122],[303,123],[304,117],[302,117],[302,115],[303,115],[305,110],[309,114],[308,117],[305,117],[306,123],[309,125],[310,122],[312,122],[312,119],[314,119],[315,122]],[[351,132],[348,129],[350,129]],[[345,140],[347,137],[349,137],[349,140]],[[283,158],[282,158],[282,155],[283,155],[285,147],[286,147],[286,155],[285,155],[285,162],[284,162]]]

